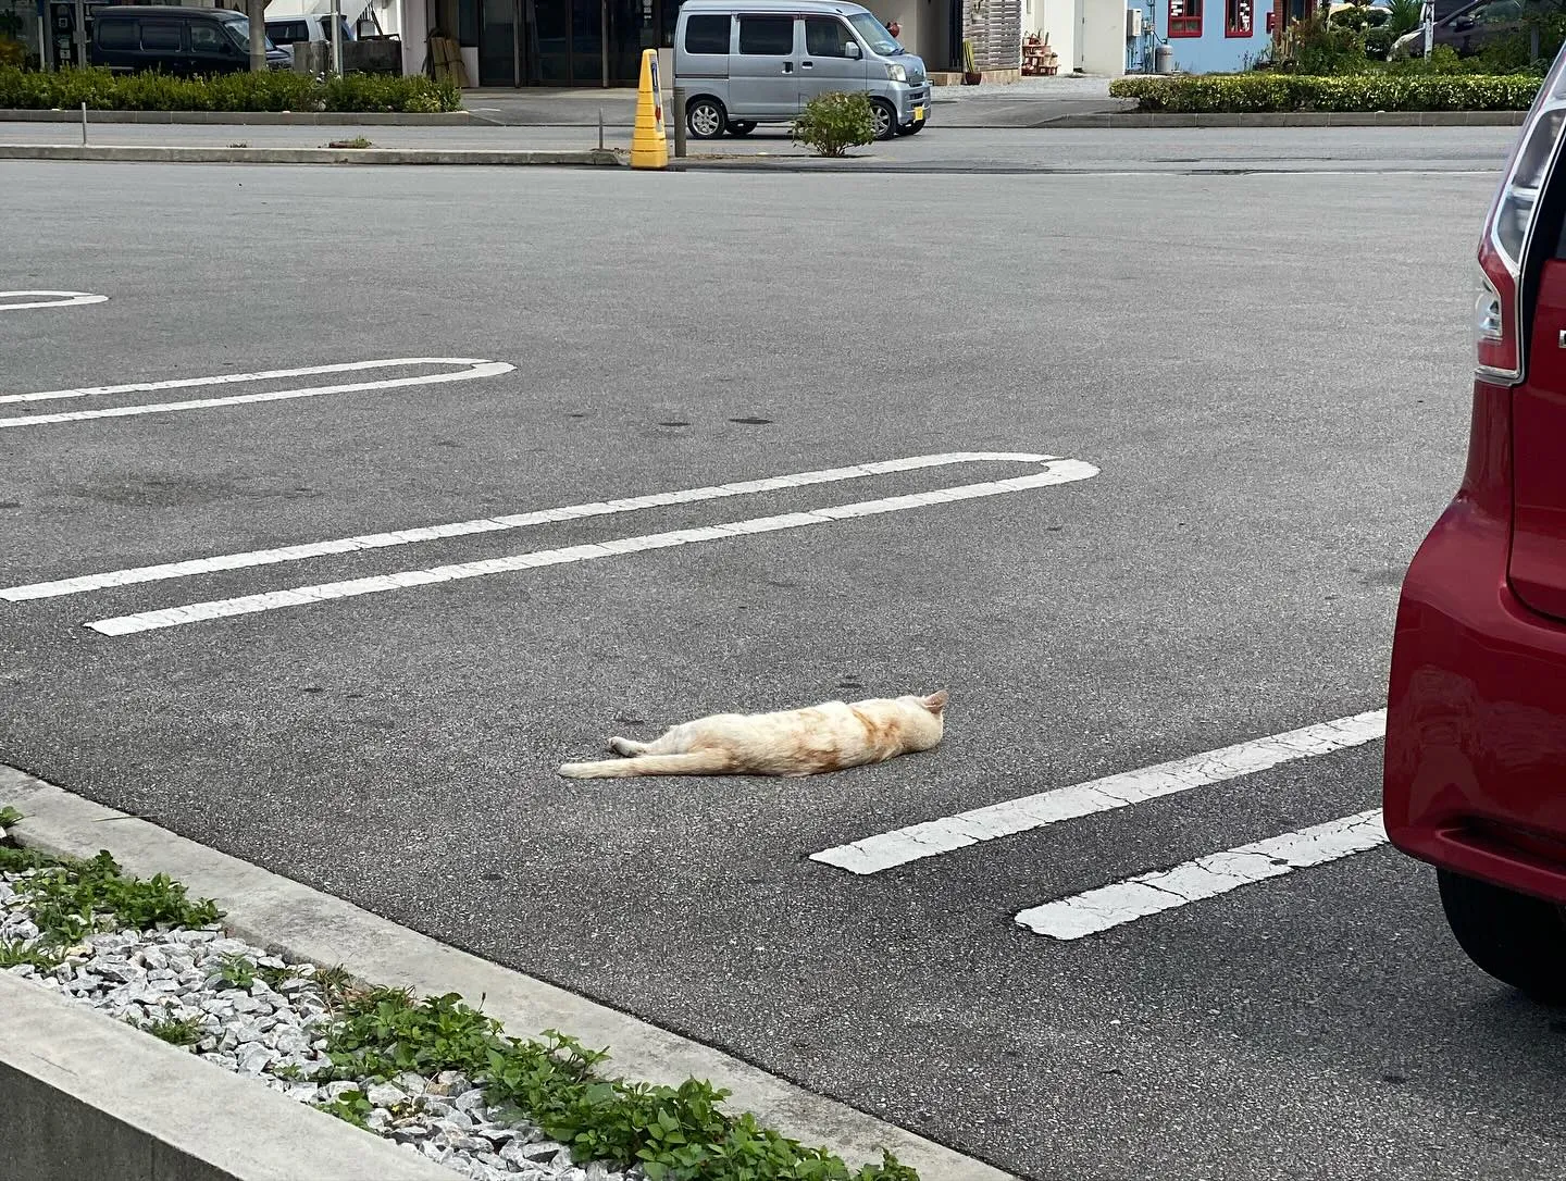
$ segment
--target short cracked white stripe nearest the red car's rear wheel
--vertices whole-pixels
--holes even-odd
[[[1386,844],[1381,810],[1370,808],[1298,832],[1286,832],[1221,854],[1207,854],[1173,869],[1128,877],[1098,890],[1030,907],[1016,915],[1018,924],[1055,940],[1079,940],[1174,910],[1187,902],[1228,894],[1231,890],[1283,877],[1295,869],[1326,865]]]

